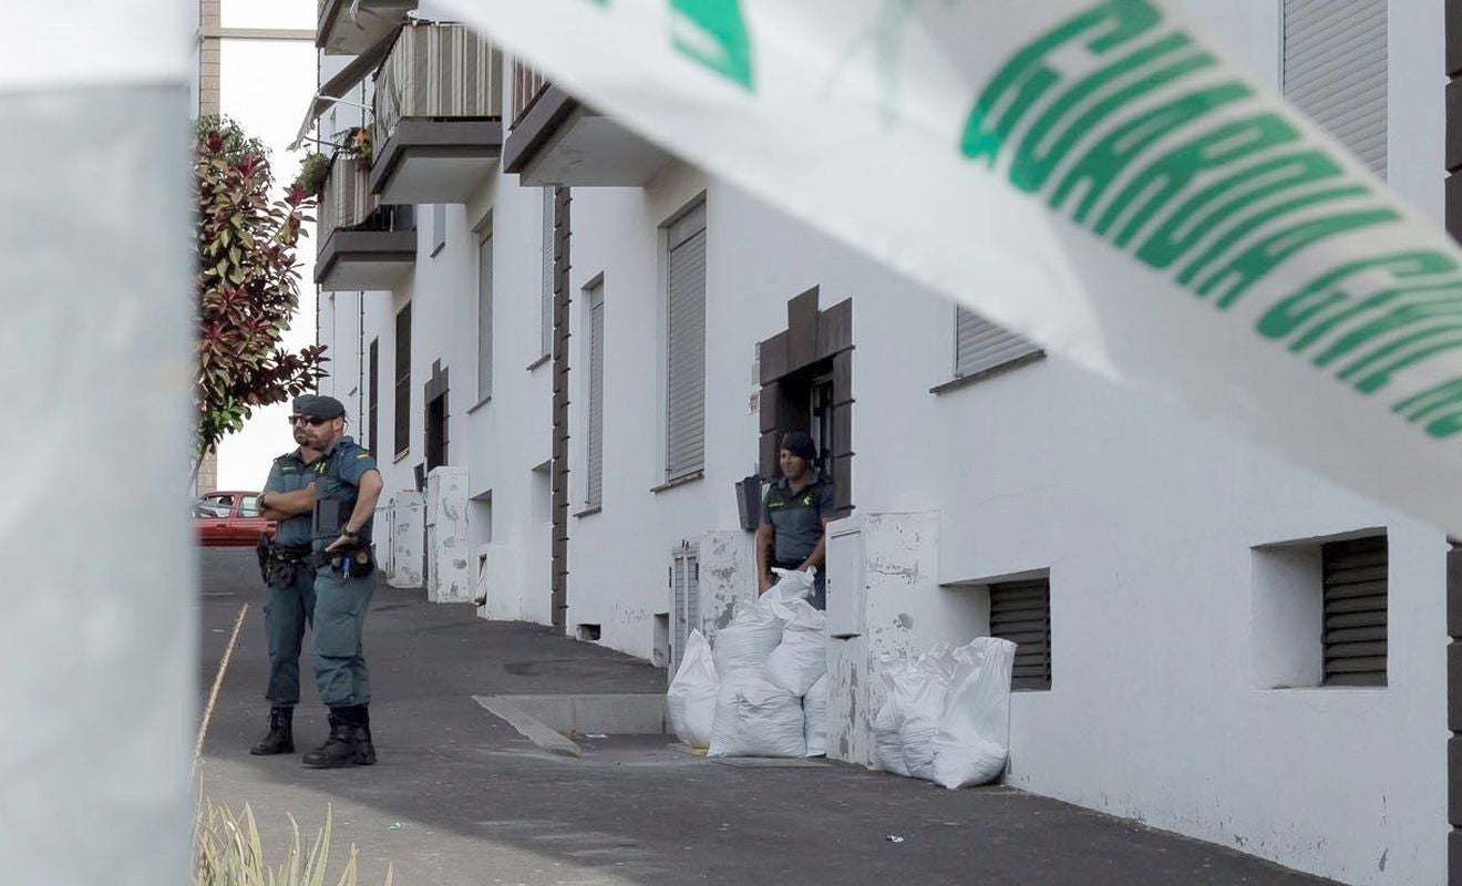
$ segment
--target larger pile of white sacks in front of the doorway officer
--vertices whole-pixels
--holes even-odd
[[[804,598],[813,576],[775,570],[778,583],[716,635],[690,633],[670,684],[670,722],[713,757],[827,753],[827,617]]]

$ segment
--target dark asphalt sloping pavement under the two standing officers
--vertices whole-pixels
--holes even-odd
[[[330,806],[332,855],[354,842],[367,886],[383,882],[387,861],[399,886],[1327,882],[1000,787],[946,791],[826,762],[725,765],[675,751],[674,737],[610,735],[580,740],[580,757],[547,753],[472,696],[655,693],[665,673],[385,583],[366,639],[380,762],[300,765],[326,732],[313,684],[295,716],[298,753],[251,757],[268,718],[263,588],[251,550],[203,551],[205,694],[244,602],[203,794],[235,810],[249,803],[272,860],[282,858],[285,813],[308,836]]]

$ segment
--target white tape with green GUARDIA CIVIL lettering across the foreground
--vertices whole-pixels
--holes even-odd
[[[911,281],[1462,532],[1462,253],[1168,4],[444,6]]]

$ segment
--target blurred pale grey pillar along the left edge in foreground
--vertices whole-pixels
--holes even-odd
[[[187,6],[0,35],[0,879],[187,882]]]

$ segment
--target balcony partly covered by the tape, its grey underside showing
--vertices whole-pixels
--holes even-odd
[[[670,155],[513,63],[513,124],[503,171],[526,186],[643,187]]]

